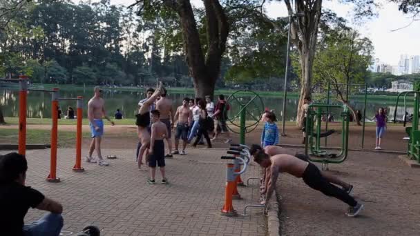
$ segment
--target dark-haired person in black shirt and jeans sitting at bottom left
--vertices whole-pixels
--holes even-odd
[[[63,206],[25,186],[28,162],[18,153],[0,155],[0,235],[58,236],[63,228]],[[24,225],[29,208],[46,210],[37,222]]]

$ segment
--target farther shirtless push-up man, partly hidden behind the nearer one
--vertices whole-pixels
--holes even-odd
[[[256,153],[258,153],[260,150],[262,150],[262,148],[259,145],[256,144],[252,144],[251,149],[249,150],[249,153],[251,153],[251,155],[256,155]],[[307,155],[305,154],[298,154],[298,153],[294,153],[294,151],[289,150],[287,148],[282,148],[279,146],[266,146],[264,149],[264,153],[266,153],[267,155],[269,155],[270,157],[274,156],[274,155],[279,155],[279,154],[288,154],[288,155],[292,155],[295,157],[298,157],[299,159],[303,160],[303,161],[309,161],[307,158]],[[255,156],[254,156],[255,157]],[[270,168],[265,168],[265,172],[264,172],[264,184],[265,187],[262,188],[262,193],[266,193],[267,191],[267,186],[268,186],[268,182],[270,179]],[[341,179],[338,179],[337,177],[335,177],[334,175],[331,175],[330,173],[321,171],[321,175],[327,179],[327,181],[329,181],[332,184],[336,184],[338,186],[341,186],[343,188],[343,190],[345,190],[345,192],[347,192],[348,194],[350,194],[353,190],[353,186],[351,184],[347,184],[345,181],[342,181]]]

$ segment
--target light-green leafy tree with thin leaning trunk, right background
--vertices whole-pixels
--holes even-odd
[[[365,83],[372,52],[372,42],[348,28],[330,30],[317,46],[313,68],[314,84],[324,91],[330,84],[336,100],[345,104],[354,117],[356,112],[348,101],[348,95],[350,92],[358,92],[358,88],[347,88],[338,83]]]

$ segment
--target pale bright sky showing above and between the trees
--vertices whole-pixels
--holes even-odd
[[[74,0],[78,1],[78,0]],[[96,0],[93,0],[96,1]],[[99,0],[98,0],[99,1]],[[397,65],[401,54],[420,55],[420,21],[412,22],[408,15],[398,10],[395,3],[386,0],[378,0],[382,6],[379,17],[367,20],[362,26],[352,23],[352,5],[343,5],[338,0],[323,1],[323,8],[329,8],[336,12],[339,17],[344,17],[363,37],[368,37],[374,46],[374,57],[381,62]],[[135,0],[111,0],[111,4],[128,6]],[[195,6],[202,6],[201,0],[191,0]],[[287,16],[287,10],[283,1],[268,3],[265,7],[267,15],[271,18]],[[407,26],[407,28],[392,32],[392,30]]]

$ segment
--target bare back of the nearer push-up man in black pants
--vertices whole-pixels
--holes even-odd
[[[301,159],[288,154],[274,155],[270,157],[270,160],[271,166],[277,167],[274,169],[278,170],[278,172],[289,173],[298,178],[302,177],[309,164],[306,161],[302,161]],[[271,171],[272,170],[273,168],[271,168]],[[274,175],[274,173],[271,173],[271,175]]]

